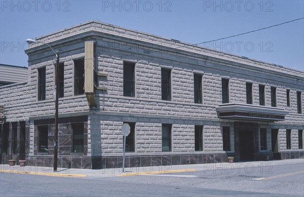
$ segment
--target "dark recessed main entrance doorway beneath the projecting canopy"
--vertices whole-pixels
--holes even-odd
[[[240,130],[240,160],[254,160],[254,130]]]

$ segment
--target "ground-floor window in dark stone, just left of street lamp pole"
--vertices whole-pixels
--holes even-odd
[[[48,153],[49,146],[49,126],[48,125],[38,125],[37,126],[38,133],[38,153]]]

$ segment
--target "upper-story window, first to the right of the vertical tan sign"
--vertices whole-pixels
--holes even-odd
[[[135,64],[124,62],[124,96],[135,96]]]

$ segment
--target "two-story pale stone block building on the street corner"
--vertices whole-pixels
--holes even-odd
[[[304,72],[89,21],[37,37],[60,53],[58,167],[302,158]],[[55,56],[30,44],[28,81],[0,87],[1,163],[52,167]]]

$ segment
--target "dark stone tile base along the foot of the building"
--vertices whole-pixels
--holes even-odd
[[[255,156],[257,161],[263,161],[264,156],[269,155],[273,159],[299,159],[304,158],[304,151],[280,152],[277,155],[272,153],[259,153]],[[11,155],[2,155],[2,164],[8,164]],[[239,162],[239,154],[235,153],[213,153],[213,154],[168,154],[168,155],[140,155],[126,156],[125,167],[149,167],[149,166],[170,166],[187,164],[210,164],[228,162],[227,156],[235,156],[235,162]],[[13,156],[18,160],[17,155]],[[278,158],[279,157],[279,158]],[[53,167],[53,155],[29,155],[26,159],[26,166]],[[19,164],[19,161],[16,161]],[[123,156],[58,156],[58,168],[82,168],[82,169],[105,169],[122,168]]]

